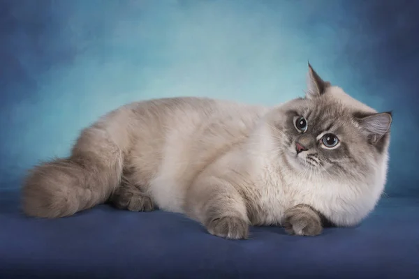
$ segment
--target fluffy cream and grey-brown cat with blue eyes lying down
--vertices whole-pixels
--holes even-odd
[[[250,225],[300,236],[357,225],[383,193],[392,114],[308,68],[304,98],[281,105],[178,97],[105,114],[82,130],[71,156],[31,169],[24,213],[158,207],[226,239],[249,238]]]

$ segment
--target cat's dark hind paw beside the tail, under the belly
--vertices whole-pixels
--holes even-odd
[[[150,197],[143,194],[140,190],[122,187],[110,198],[110,202],[118,209],[128,209],[129,211],[153,211],[154,204]]]

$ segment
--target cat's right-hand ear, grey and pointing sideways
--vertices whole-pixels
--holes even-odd
[[[391,112],[381,112],[357,118],[361,132],[372,144],[376,144],[390,131],[392,123]]]

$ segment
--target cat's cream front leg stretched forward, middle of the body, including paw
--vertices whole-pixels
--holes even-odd
[[[186,213],[200,221],[210,234],[226,239],[247,239],[249,219],[242,195],[226,180],[200,178],[189,188]]]

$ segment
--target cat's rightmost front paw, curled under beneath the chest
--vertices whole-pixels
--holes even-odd
[[[321,215],[307,204],[286,210],[282,225],[288,234],[300,236],[315,236],[323,230]]]

